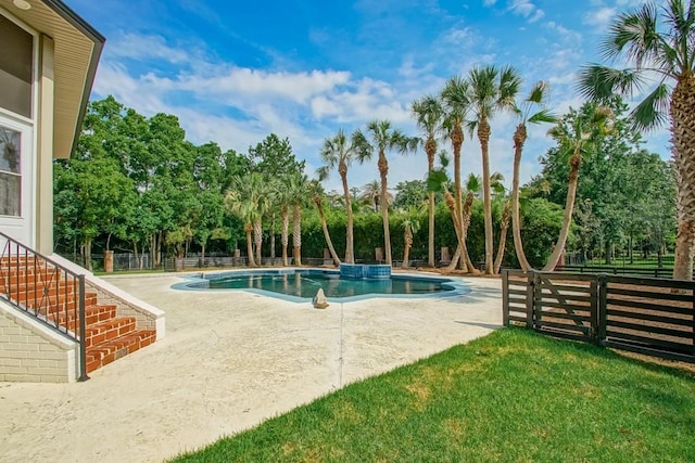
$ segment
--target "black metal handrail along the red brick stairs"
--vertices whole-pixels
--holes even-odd
[[[0,232],[0,299],[79,344],[79,381],[87,376],[85,275]]]

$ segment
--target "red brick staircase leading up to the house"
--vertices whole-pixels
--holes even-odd
[[[41,258],[0,259],[0,294],[25,312],[61,332],[79,335],[78,284],[66,272]],[[115,305],[99,304],[97,293],[85,293],[87,373],[148,346],[155,330],[139,330],[135,317],[118,316]]]

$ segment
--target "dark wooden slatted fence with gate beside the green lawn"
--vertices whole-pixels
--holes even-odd
[[[503,271],[504,324],[695,362],[695,282]]]

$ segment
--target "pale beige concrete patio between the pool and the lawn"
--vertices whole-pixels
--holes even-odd
[[[173,275],[111,283],[166,312],[166,337],[86,383],[0,383],[0,462],[150,462],[485,335],[501,281],[454,298],[325,310],[243,292],[181,292]]]

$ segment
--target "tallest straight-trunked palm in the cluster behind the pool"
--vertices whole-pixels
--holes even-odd
[[[521,77],[511,66],[497,69],[495,66],[473,67],[469,75],[471,110],[475,120],[469,125],[472,132],[477,129],[482,154],[482,202],[485,220],[485,273],[492,274],[492,197],[490,194],[490,119],[497,111],[514,108],[514,99],[519,91]]]

